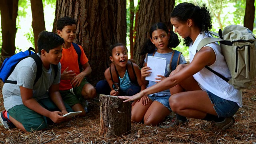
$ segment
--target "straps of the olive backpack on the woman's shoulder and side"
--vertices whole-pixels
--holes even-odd
[[[221,42],[223,41],[224,43],[229,43],[230,41],[227,40],[222,40],[221,38],[204,38],[201,40],[201,42],[198,44],[197,48],[196,48],[196,52],[198,52],[199,50],[201,50],[201,48],[203,48],[204,46],[206,46],[207,44],[213,43],[213,42]],[[218,72],[212,70],[210,67],[205,66],[205,68],[207,68],[208,70],[210,70],[212,73],[216,74],[217,76],[219,76],[220,78],[222,78],[223,80],[225,80],[226,82],[229,81],[228,78],[222,76],[221,74],[219,74]]]

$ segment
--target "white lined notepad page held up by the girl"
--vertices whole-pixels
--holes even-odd
[[[151,70],[149,70],[151,73],[149,76],[146,76],[146,80],[159,81],[159,80],[156,80],[155,78],[160,78],[156,75],[164,76],[165,66],[166,66],[166,58],[148,56],[147,66],[149,66],[151,68]]]

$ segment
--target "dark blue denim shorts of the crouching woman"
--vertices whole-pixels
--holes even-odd
[[[214,95],[211,92],[206,91],[212,104],[214,104],[213,108],[218,114],[219,117],[230,117],[236,114],[239,109],[239,106],[236,102],[232,102],[230,100],[225,100]]]

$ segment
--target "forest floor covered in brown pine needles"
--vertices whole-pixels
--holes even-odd
[[[1,81],[0,111],[4,110],[2,86]],[[161,128],[132,123],[130,134],[102,138],[98,98],[89,101],[88,110],[84,118],[50,125],[44,131],[27,133],[0,125],[0,144],[256,144],[256,80],[243,90],[243,106],[234,115],[236,122],[223,131],[213,128],[210,122],[191,118],[188,127]]]

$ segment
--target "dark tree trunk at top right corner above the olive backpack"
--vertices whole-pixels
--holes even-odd
[[[246,0],[246,8],[244,14],[244,27],[249,28],[251,31],[253,30],[254,23],[254,0]]]

